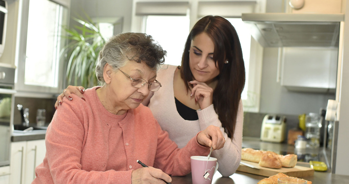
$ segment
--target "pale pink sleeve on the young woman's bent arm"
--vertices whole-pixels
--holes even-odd
[[[222,149],[214,150],[211,154],[213,157],[217,158],[217,162],[219,164],[218,171],[222,174],[222,176],[226,177],[234,174],[241,161],[244,120],[242,101],[240,100],[239,102],[233,139],[228,138],[228,134],[224,132],[224,128],[222,127],[221,121],[218,119],[218,115],[214,110],[213,104],[203,110],[198,110],[197,112],[201,131],[205,130],[209,125],[218,126],[220,127],[225,140],[227,140]]]

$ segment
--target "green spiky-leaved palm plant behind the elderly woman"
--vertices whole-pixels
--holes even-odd
[[[72,28],[64,28],[68,44],[62,49],[67,53],[66,80],[74,86],[86,88],[97,85],[95,67],[98,53],[105,44],[98,25],[87,17],[73,18],[78,24]]]

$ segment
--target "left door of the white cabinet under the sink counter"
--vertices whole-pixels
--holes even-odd
[[[10,184],[22,184],[27,141],[11,142]]]

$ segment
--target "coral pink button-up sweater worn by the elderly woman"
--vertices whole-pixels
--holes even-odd
[[[132,170],[142,167],[136,160],[181,176],[190,173],[190,156],[208,154],[196,136],[179,149],[142,104],[124,115],[110,113],[97,88],[85,91],[86,101],[63,99],[47,129],[46,156],[32,183],[131,184]]]

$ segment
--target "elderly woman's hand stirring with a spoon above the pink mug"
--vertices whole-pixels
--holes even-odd
[[[197,140],[200,145],[221,149],[224,146],[225,139],[223,133],[217,126],[210,125],[198,134]]]

